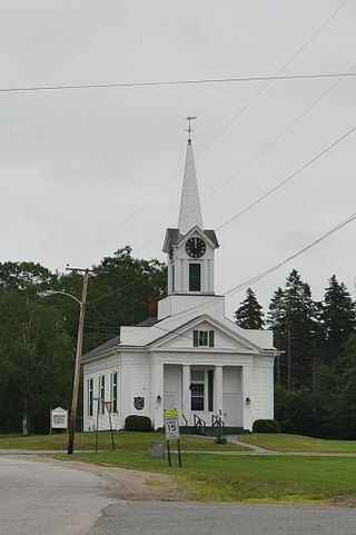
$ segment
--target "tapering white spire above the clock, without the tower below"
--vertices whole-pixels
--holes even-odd
[[[182,235],[186,235],[196,225],[198,225],[202,229],[196,166],[194,162],[191,140],[189,139],[187,147],[185,176],[182,179],[178,228]]]

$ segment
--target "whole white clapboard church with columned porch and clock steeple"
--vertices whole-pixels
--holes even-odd
[[[119,336],[82,357],[85,430],[109,428],[106,407],[118,429],[132,414],[161,428],[170,408],[181,425],[210,427],[224,414],[237,430],[274,417],[273,333],[225,317],[225,298],[214,290],[218,247],[215,231],[202,226],[189,138],[178,228],[167,229],[162,248],[168,296],[157,317],[121,326]]]

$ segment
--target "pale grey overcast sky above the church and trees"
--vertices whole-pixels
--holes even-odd
[[[356,2],[2,0],[0,88],[274,76],[344,3],[283,75],[356,71]],[[188,113],[198,117],[202,219],[212,229],[356,126],[355,78],[264,86],[1,92],[0,261],[90,267],[125,245],[164,259],[165,230],[178,220]],[[217,293],[355,211],[355,143],[356,133],[217,232]],[[256,284],[258,299],[266,307],[291,268],[316,299],[334,273],[355,296],[355,230],[350,224]],[[227,301],[228,316],[244,297]]]

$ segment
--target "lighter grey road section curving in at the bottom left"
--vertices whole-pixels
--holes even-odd
[[[110,484],[56,464],[0,458],[0,535],[87,534]]]

